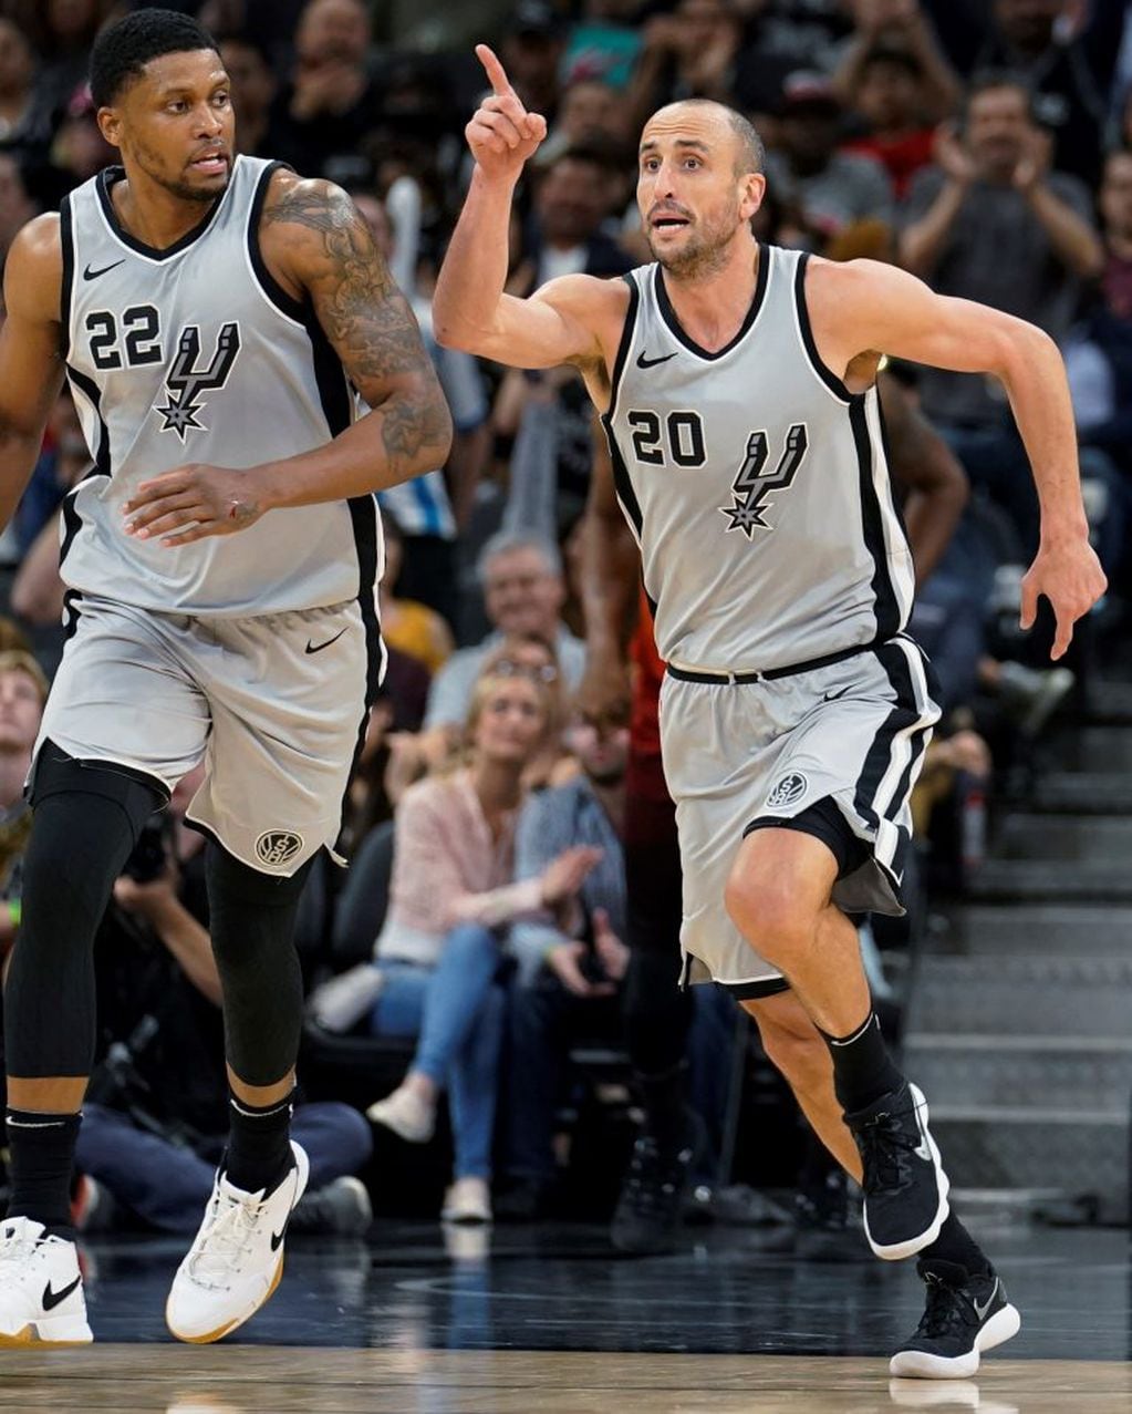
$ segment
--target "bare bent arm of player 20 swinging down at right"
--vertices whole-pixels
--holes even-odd
[[[1030,628],[1044,594],[1057,617],[1053,656],[1060,658],[1074,622],[1104,594],[1105,577],[1088,543],[1057,345],[1025,320],[934,294],[907,271],[872,260],[811,262],[806,298],[818,352],[838,376],[862,354],[882,352],[1002,382],[1042,506],[1042,543],[1022,585],[1022,626]]]

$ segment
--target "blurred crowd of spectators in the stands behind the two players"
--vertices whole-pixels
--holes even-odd
[[[448,1097],[448,1216],[490,1216],[493,1161],[536,1191],[534,1210],[561,1167],[554,1117],[571,1044],[598,1035],[616,1046],[626,724],[589,720],[572,704],[585,666],[579,575],[595,437],[581,379],[571,369],[503,370],[431,337],[430,294],[469,175],[462,127],[483,88],[471,42],[495,42],[520,98],[548,123],[516,202],[512,293],[565,273],[615,277],[649,259],[633,205],[636,136],[661,103],[707,96],[749,115],[766,140],[760,239],[899,262],[941,293],[1033,321],[1061,346],[1111,590],[1057,667],[1047,625],[1029,641],[1015,628],[1037,503],[1002,389],[900,365],[883,373],[893,426],[914,417],[934,431],[930,443],[913,437],[904,457],[895,447],[893,469],[914,537],[930,544],[913,629],[936,659],[945,718],[917,824],[924,887],[938,891],[961,889],[977,867],[988,793],[1016,779],[1053,714],[1080,701],[1097,643],[1128,632],[1132,23],[1124,0],[165,6],[218,35],[239,151],[353,195],[413,301],[452,409],[448,464],[382,496],[390,667],[342,847],[358,855],[382,831],[391,881],[379,889],[375,872],[373,960],[362,959],[315,1015],[403,1042],[404,1079],[387,1094],[375,1080],[370,1096],[383,1130],[428,1141]],[[25,221],[114,160],[86,58],[99,25],[138,7],[0,0],[0,262]],[[64,392],[0,539],[11,617],[0,633],[0,953],[18,946],[18,782],[62,642],[58,519],[86,465]],[[927,499],[916,505],[917,495]],[[924,508],[943,516],[934,532]],[[134,867],[116,891],[103,966],[110,978],[136,976],[130,950],[141,949],[148,991],[126,997],[107,984],[103,1099],[79,1155],[93,1181],[83,1212],[105,1189],[136,1217],[174,1227],[205,1191],[219,1051],[202,1069],[202,1093],[185,1097],[196,1109],[171,1113],[167,1092],[181,1092],[150,1034],[195,1027],[219,1046],[194,854],[174,820],[155,872],[138,881]],[[339,892],[328,867],[304,922],[312,984],[335,970],[326,945]],[[184,993],[179,1022],[170,1019],[175,1008],[155,1015],[153,1003],[174,995],[170,974]],[[712,1066],[729,1060],[725,1048],[722,1059],[719,1048],[702,1049],[697,1093],[714,1094]],[[110,1065],[123,1053],[124,1090]],[[503,1070],[512,1083],[500,1087]],[[711,1128],[718,1116],[704,1118]],[[348,1223],[349,1209],[356,1223],[355,1195],[335,1185],[365,1164],[369,1133],[332,1104],[308,1123],[321,1133],[312,1144],[324,1199],[334,1199],[315,1220]],[[167,1141],[174,1150],[158,1147]],[[117,1176],[122,1152],[146,1175],[131,1191]]]

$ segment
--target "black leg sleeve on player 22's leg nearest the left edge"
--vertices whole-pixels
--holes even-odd
[[[95,933],[141,826],[167,799],[154,778],[75,761],[49,741],[41,748],[20,936],[4,987],[8,1075],[90,1073]]]

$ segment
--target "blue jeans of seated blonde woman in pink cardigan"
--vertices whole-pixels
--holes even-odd
[[[420,1036],[413,1069],[448,1090],[456,1178],[490,1178],[492,1131],[503,1045],[499,943],[488,928],[461,923],[435,967],[382,962],[384,986],[372,1028]]]

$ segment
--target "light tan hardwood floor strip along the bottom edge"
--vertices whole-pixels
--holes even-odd
[[[876,1360],[106,1345],[0,1362],[0,1410],[133,1414],[1126,1414],[1126,1365],[999,1360],[888,1380]]]

